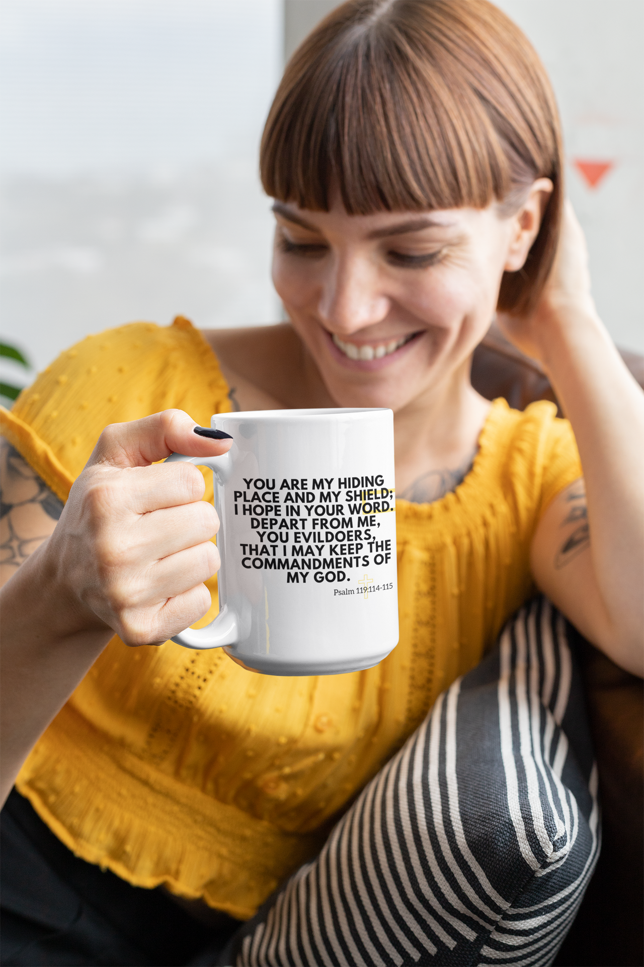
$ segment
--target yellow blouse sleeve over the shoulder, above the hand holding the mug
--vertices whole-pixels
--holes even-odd
[[[73,480],[106,425],[169,408],[202,425],[230,409],[209,343],[182,316],[171,326],[130,323],[65,350],[3,415],[3,432],[34,469],[46,456]]]

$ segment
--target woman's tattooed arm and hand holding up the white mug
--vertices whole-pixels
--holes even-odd
[[[225,453],[228,441],[195,436],[194,425],[168,410],[108,426],[58,523],[42,514],[44,501],[58,509],[53,495],[5,445],[3,531],[10,518],[18,556],[0,593],[0,802],[115,631],[129,645],[161,644],[210,607],[203,582],[219,566],[218,520],[202,500],[204,479],[190,464],[153,465],[173,451]]]

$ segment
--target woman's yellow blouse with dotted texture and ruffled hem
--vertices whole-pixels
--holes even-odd
[[[167,407],[209,425],[227,392],[187,320],[135,323],[64,352],[2,426],[65,500],[104,425]],[[387,659],[263,677],[220,650],[115,636],[18,777],[44,822],[132,884],[251,916],[531,594],[535,526],[581,473],[571,427],[551,403],[518,413],[498,399],[479,443],[456,492],[398,501],[400,644]],[[216,596],[203,623],[215,611]]]

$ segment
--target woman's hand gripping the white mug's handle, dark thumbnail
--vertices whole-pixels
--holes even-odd
[[[128,645],[160,644],[210,607],[203,582],[219,567],[210,542],[219,520],[202,499],[204,478],[188,463],[151,465],[230,448],[194,425],[167,410],[106,427],[44,549],[43,567],[78,620]]]

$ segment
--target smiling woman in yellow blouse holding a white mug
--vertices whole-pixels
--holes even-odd
[[[261,164],[290,324],[85,340],[5,421],[3,794],[15,779],[89,864],[240,919],[533,582],[642,674],[644,402],[590,295],[525,38],[486,0],[350,0],[295,52]],[[495,310],[570,425],[472,390]],[[251,680],[167,642],[210,606],[217,520],[198,471],[153,464],[223,453],[194,420],[231,406],[394,410],[401,642],[376,669]]]

